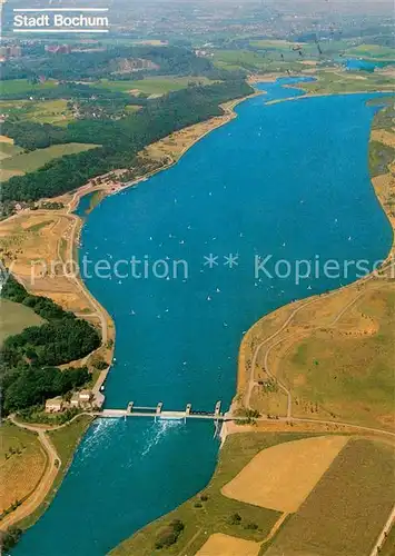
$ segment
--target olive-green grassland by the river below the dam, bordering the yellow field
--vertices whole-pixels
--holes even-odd
[[[121,543],[111,550],[111,556],[129,556],[131,554],[138,556],[152,556],[152,554],[192,555],[214,533],[261,542],[282,514],[227,498],[220,494],[220,489],[260,450],[289,440],[299,440],[307,436],[287,433],[239,433],[228,436],[219,453],[219,463],[207,488]],[[241,517],[237,524],[231,523],[234,514],[239,514]],[[185,529],[175,545],[157,553],[155,540],[158,533],[172,519],[180,519]],[[255,524],[257,528],[248,526],[251,524]],[[188,548],[186,548],[187,545]]]

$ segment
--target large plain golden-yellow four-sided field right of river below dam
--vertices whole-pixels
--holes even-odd
[[[279,444],[260,451],[221,493],[239,502],[293,513],[346,445],[345,436]]]

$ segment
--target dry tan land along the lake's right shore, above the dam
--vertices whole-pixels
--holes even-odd
[[[391,145],[395,133],[392,130],[373,129],[371,141]],[[372,178],[373,188],[385,211],[392,229],[395,230],[395,212],[393,210],[395,161],[388,167],[387,173]],[[384,430],[395,430],[394,414],[391,408],[391,321],[387,322],[386,311],[389,310],[387,299],[393,295],[394,287],[393,244],[382,269],[339,290],[326,295],[303,299],[282,307],[256,322],[245,335],[238,358],[237,395],[233,403],[234,411],[240,414],[256,410],[271,419],[292,417],[308,417],[310,420],[326,419],[328,421],[345,420],[355,425],[372,426]],[[377,304],[382,304],[377,308]],[[389,301],[388,301],[389,302]],[[385,325],[385,322],[387,322]],[[382,380],[388,381],[387,396],[376,399],[375,405],[366,401],[361,404],[363,383],[355,386],[356,396],[344,387],[326,384],[319,376],[322,371],[308,369],[308,353],[316,359],[316,366],[328,365],[325,350],[330,354],[330,360],[345,361],[352,378],[361,375],[361,366],[374,365],[375,338],[381,330],[382,340],[385,330],[388,332],[389,353],[387,360],[382,358],[382,366],[387,369]],[[384,336],[383,336],[384,335]],[[319,340],[318,340],[319,338]],[[381,342],[382,342],[381,340]],[[322,347],[318,347],[319,341]],[[377,340],[378,341],[378,340]],[[362,345],[372,346],[371,354]],[[306,351],[307,350],[307,351]],[[364,353],[364,363],[356,356]],[[332,353],[330,353],[332,351]],[[382,345],[382,353],[385,351]],[[346,354],[350,354],[347,357]],[[307,360],[306,360],[307,357]],[[366,359],[367,358],[367,359]],[[300,360],[299,360],[300,359]],[[354,359],[354,361],[353,361]],[[372,363],[367,363],[371,361]],[[339,365],[332,365],[333,374],[342,377]],[[372,367],[373,368],[373,367]],[[304,370],[305,369],[305,370]],[[313,375],[312,375],[313,373]],[[335,376],[335,379],[338,378]],[[312,378],[318,377],[318,378]],[[325,380],[325,377],[324,379]],[[368,377],[365,377],[368,380]],[[328,389],[329,388],[329,389]],[[309,390],[317,393],[314,398]],[[325,394],[328,399],[323,401]]]

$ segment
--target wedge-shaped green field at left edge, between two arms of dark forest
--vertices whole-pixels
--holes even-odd
[[[98,146],[78,142],[52,145],[52,147],[48,147],[47,149],[37,149],[31,152],[24,152],[23,155],[17,155],[16,157],[7,158],[2,161],[1,169],[7,171],[16,171],[19,173],[28,173],[37,170],[38,168],[41,168],[55,158],[61,158],[67,155],[76,155],[77,152],[95,149],[96,147]]]

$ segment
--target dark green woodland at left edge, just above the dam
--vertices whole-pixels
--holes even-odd
[[[51,299],[30,295],[12,276],[2,286],[2,297],[30,307],[47,320],[8,337],[2,345],[2,410],[7,414],[26,409],[87,384],[90,375],[85,367],[60,370],[56,365],[80,359],[97,349],[97,330]]]

